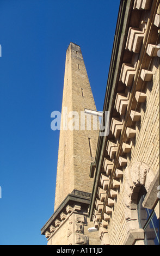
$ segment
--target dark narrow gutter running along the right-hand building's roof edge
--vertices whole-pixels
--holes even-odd
[[[116,93],[116,89],[115,89],[116,84],[120,76],[120,68],[121,68],[120,64],[122,63],[123,53],[125,50],[128,23],[130,22],[130,13],[132,8],[133,8],[132,0],[121,1],[119,14],[118,14],[118,22],[117,22],[116,31],[115,31],[112,57],[110,60],[110,68],[109,68],[109,74],[108,74],[106,94],[104,99],[103,113],[105,111],[109,111],[111,113],[112,109],[114,108],[113,99]],[[104,159],[104,155],[106,151],[106,143],[107,143],[107,137],[99,137],[99,140],[97,143],[95,163],[91,164],[90,176],[92,177],[94,176],[94,185],[93,185],[93,193],[92,193],[91,204],[89,209],[90,220],[93,216],[96,191],[97,191],[97,187],[99,186],[99,180],[100,180],[101,169],[103,164],[102,160]]]

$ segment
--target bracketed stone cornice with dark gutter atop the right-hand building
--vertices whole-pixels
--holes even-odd
[[[127,154],[131,152],[136,137],[136,122],[140,120],[138,109],[146,101],[145,86],[153,78],[150,70],[152,57],[156,56],[158,49],[158,27],[155,28],[158,1],[138,0],[134,1],[134,5],[132,1],[127,3],[127,14],[121,16],[121,23],[118,22],[116,28],[121,30],[119,52],[114,48],[118,41],[115,36],[103,108],[103,112],[110,112],[110,133],[99,138],[95,163],[91,166],[92,175],[95,166],[95,174],[89,217],[95,227],[99,227],[100,223],[102,227],[107,227],[108,212],[115,204],[119,178],[127,166]],[[147,13],[145,10],[148,10]],[[133,22],[136,19],[137,25]],[[116,65],[113,64],[115,58]],[[103,204],[96,204],[96,199]]]

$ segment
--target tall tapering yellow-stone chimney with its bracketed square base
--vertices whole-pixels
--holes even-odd
[[[97,118],[84,109],[96,111],[81,48],[70,43],[66,51],[61,129],[57,164],[54,214],[41,229],[48,245],[99,245],[97,232],[89,233],[88,218],[99,128]]]

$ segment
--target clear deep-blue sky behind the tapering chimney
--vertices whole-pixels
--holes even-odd
[[[0,1],[0,245],[46,245],[53,214],[65,53],[81,46],[102,111],[120,0]]]

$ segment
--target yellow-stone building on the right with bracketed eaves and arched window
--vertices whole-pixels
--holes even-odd
[[[90,169],[89,217],[101,245],[159,242],[158,44],[159,1],[121,1],[103,108],[110,132]]]

